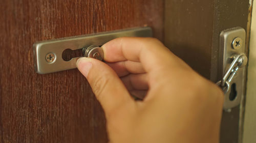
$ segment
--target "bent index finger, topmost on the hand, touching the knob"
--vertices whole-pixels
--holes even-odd
[[[176,60],[176,56],[155,38],[122,37],[105,43],[102,48],[106,62],[141,62],[146,72],[166,61]]]

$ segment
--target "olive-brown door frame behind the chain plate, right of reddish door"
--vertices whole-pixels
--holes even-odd
[[[194,70],[217,82],[219,39],[223,30],[243,27],[247,32],[246,52],[250,33],[251,2],[247,0],[165,1],[164,42]],[[243,133],[244,100],[223,111],[221,143],[241,142]]]

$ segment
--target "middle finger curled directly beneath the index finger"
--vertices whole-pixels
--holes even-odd
[[[108,64],[119,77],[128,75],[130,73],[138,74],[145,73],[141,63],[133,61],[122,61],[117,63],[106,63]]]

